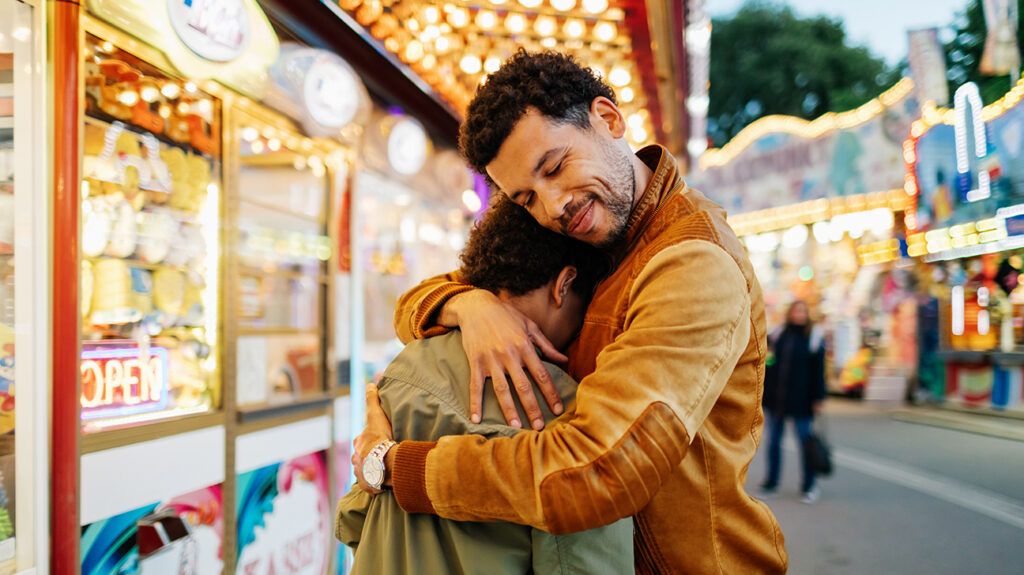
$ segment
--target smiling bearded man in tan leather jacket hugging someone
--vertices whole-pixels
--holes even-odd
[[[508,373],[534,430],[387,448],[369,393],[356,459],[384,477],[360,485],[392,486],[410,513],[552,533],[634,516],[638,573],[784,572],[778,524],[743,490],[763,427],[760,285],[724,212],[685,185],[668,150],[633,154],[625,132],[611,90],[563,55],[520,52],[479,89],[461,134],[469,163],[543,226],[615,263],[570,349],[577,403],[536,431],[523,365],[558,412],[534,351],[556,350],[486,292],[428,280],[400,302],[399,336],[461,327],[474,402],[490,377],[505,416],[520,423]]]

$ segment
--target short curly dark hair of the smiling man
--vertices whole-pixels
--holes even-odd
[[[572,56],[520,48],[476,90],[459,132],[459,148],[474,170],[485,174],[528,108],[589,130],[590,104],[598,96],[615,101],[611,88]]]

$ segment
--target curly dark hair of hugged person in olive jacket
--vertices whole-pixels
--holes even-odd
[[[575,266],[572,289],[589,298],[608,269],[596,248],[537,223],[522,207],[500,196],[469,232],[462,251],[462,279],[476,288],[522,296]]]

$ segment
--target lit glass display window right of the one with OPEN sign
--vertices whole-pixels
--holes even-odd
[[[238,193],[227,301],[242,412],[323,398],[329,371],[329,164],[338,153],[263,115],[234,110]]]

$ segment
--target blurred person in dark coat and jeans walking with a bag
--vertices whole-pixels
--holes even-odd
[[[801,500],[813,503],[820,496],[809,453],[804,449],[814,427],[814,414],[825,397],[825,349],[822,330],[811,321],[807,302],[790,305],[785,323],[769,338],[770,355],[765,369],[765,408],[768,433],[768,476],[761,484],[766,495],[778,490],[782,473],[782,432],[793,419],[800,439],[803,481]]]

